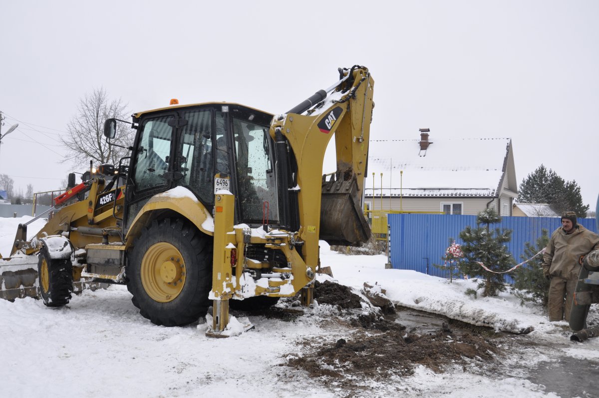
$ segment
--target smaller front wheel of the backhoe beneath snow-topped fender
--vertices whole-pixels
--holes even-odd
[[[38,254],[40,296],[48,307],[62,307],[71,300],[73,267],[71,260],[52,259],[44,245]]]

